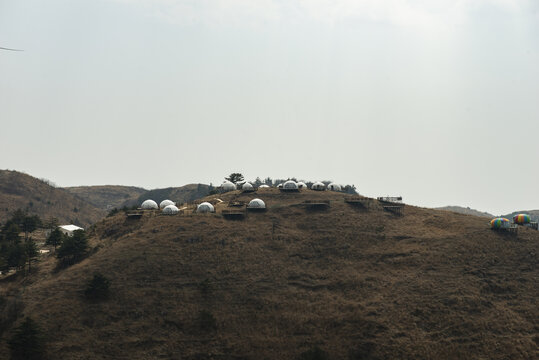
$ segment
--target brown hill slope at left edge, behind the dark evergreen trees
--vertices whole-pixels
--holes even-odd
[[[42,219],[56,217],[60,223],[82,226],[106,215],[105,211],[64,189],[18,171],[0,170],[0,222],[17,209],[27,209]]]

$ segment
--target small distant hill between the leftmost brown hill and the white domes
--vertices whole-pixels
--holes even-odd
[[[137,201],[139,196],[148,191],[135,186],[120,185],[74,186],[65,189],[103,210],[121,208],[128,202]]]

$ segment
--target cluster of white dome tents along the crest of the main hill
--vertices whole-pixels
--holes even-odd
[[[270,186],[266,184],[262,184],[258,186],[258,189],[267,189],[267,188],[270,188]],[[293,180],[288,180],[288,181],[285,181],[284,183],[279,184],[277,188],[282,191],[299,191],[300,189],[308,189],[308,186],[307,184],[301,181],[296,182]],[[223,193],[238,190],[238,189],[241,189],[243,192],[255,191],[254,185],[251,184],[250,182],[245,182],[240,185],[236,185],[233,182],[230,182],[228,180],[224,181],[219,187],[219,189]],[[341,189],[342,187],[335,183],[330,183],[329,185],[327,185],[327,187],[322,182],[315,182],[311,185],[311,190],[315,190],[315,191],[325,191],[325,190],[341,191]],[[168,199],[161,201],[159,206],[157,205],[155,201],[148,199],[148,200],[145,200],[141,204],[140,208],[142,210],[161,209],[164,215],[175,215],[180,212],[180,209],[178,209],[178,207],[176,206],[176,203]],[[252,199],[247,205],[247,209],[252,209],[252,210],[262,210],[265,208],[266,208],[266,203],[262,199],[259,199],[259,198]],[[196,212],[197,213],[213,213],[215,212],[215,207],[209,202],[203,202],[197,206]]]

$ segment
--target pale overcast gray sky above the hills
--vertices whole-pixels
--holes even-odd
[[[539,208],[534,0],[0,0],[0,168]]]

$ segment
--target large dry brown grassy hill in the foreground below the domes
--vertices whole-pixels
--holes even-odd
[[[412,206],[397,216],[335,192],[207,199],[218,197],[217,214],[104,219],[83,262],[54,272],[43,257],[27,279],[0,282],[4,317],[22,302],[53,359],[294,359],[316,346],[330,359],[539,356],[537,231]],[[253,197],[268,211],[220,215]],[[97,304],[81,297],[95,271],[112,281]]]

